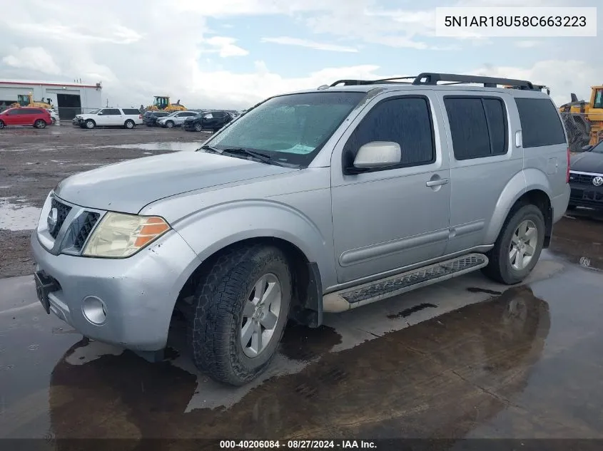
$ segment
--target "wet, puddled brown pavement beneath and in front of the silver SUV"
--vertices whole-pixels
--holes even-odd
[[[603,439],[602,232],[568,212],[525,284],[478,272],[290,325],[242,388],[193,368],[178,322],[148,363],[46,315],[32,276],[0,279],[0,438]]]

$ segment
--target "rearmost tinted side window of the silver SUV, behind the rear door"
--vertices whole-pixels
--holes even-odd
[[[563,125],[552,100],[516,98],[522,124],[523,147],[565,144]]]

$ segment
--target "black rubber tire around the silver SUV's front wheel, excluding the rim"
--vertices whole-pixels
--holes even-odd
[[[240,338],[243,307],[264,274],[278,279],[280,309],[268,345],[257,356],[248,357]],[[235,386],[258,377],[272,361],[283,336],[291,290],[288,261],[278,248],[240,247],[219,256],[196,288],[193,314],[188,319],[188,343],[196,367],[213,380]]]

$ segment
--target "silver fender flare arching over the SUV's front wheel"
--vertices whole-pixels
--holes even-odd
[[[274,200],[225,202],[191,214],[173,227],[201,260],[244,239],[276,237],[294,244],[308,261],[318,264],[323,279],[330,279],[328,273],[334,271],[327,234],[298,209]]]

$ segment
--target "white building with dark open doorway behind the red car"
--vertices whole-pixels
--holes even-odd
[[[76,114],[102,108],[101,83],[61,83],[30,80],[0,79],[0,109],[19,100],[19,95],[34,95],[34,102],[49,102],[59,111],[61,119],[74,118]]]

